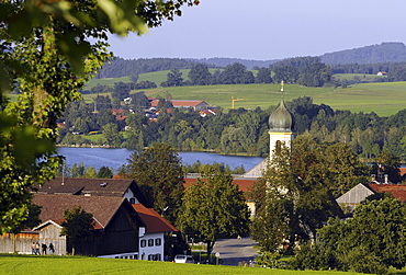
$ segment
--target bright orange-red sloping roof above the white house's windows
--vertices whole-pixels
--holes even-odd
[[[132,206],[146,225],[145,230],[147,233],[178,231],[178,229],[176,229],[171,224],[169,224],[168,220],[162,218],[153,208],[147,208],[142,204],[133,204]]]

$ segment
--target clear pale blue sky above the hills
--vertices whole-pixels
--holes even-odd
[[[200,0],[147,34],[111,36],[125,59],[319,56],[406,43],[406,0]]]

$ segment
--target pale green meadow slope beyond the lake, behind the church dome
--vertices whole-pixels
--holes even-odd
[[[187,76],[182,70],[183,76]],[[161,82],[166,80],[168,71],[145,73],[139,80]],[[123,81],[124,79],[121,79]],[[95,81],[95,80],[92,80]],[[101,81],[101,80],[98,80]],[[106,83],[113,84],[120,79],[108,79]],[[89,85],[94,85],[90,82]],[[255,108],[260,106],[267,108],[277,105],[280,101],[279,84],[237,84],[237,85],[207,85],[207,87],[176,87],[157,88],[145,90],[147,95],[156,96],[163,91],[171,93],[174,100],[203,100],[208,104],[232,107],[234,99],[245,99],[235,102],[236,107]],[[380,116],[388,116],[406,107],[406,82],[384,82],[353,84],[348,89],[341,88],[305,88],[296,84],[285,85],[285,100],[291,101],[298,96],[312,96],[314,103],[327,104],[335,110],[349,110],[351,112],[375,112]],[[95,95],[86,95],[89,102]]]

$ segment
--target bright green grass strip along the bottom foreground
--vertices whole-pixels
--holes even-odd
[[[2,275],[75,275],[75,274],[154,274],[154,275],[199,275],[199,274],[271,274],[271,275],[353,275],[350,272],[283,271],[257,267],[215,266],[200,264],[176,264],[119,259],[95,259],[81,256],[34,256],[0,255]]]

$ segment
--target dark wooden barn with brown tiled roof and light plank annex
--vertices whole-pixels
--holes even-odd
[[[42,207],[40,219],[43,221],[33,232],[21,232],[19,253],[31,254],[32,242],[53,243],[55,254],[65,255],[71,252],[71,243],[60,236],[64,213],[80,206],[93,215],[94,229],[91,236],[75,247],[76,253],[104,257],[138,259],[139,238],[144,236],[146,225],[124,197],[75,196],[34,194],[33,203]],[[10,238],[0,239],[0,251],[12,252]]]

